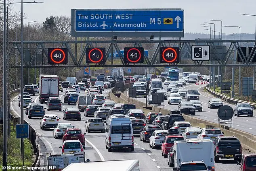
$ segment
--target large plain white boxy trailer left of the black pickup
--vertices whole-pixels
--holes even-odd
[[[204,161],[208,170],[214,171],[214,146],[212,140],[188,139],[174,141],[174,168],[180,163]]]

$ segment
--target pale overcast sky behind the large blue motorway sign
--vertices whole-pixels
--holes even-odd
[[[31,0],[34,1],[34,0]],[[209,33],[201,24],[208,19],[222,20],[223,25],[237,25],[241,33],[255,33],[256,16],[243,16],[239,13],[256,14],[256,0],[38,0],[43,4],[24,4],[23,11],[29,21],[42,23],[51,15],[71,16],[71,9],[101,8],[182,8],[185,13],[185,33]],[[13,2],[20,2],[14,0]],[[29,0],[23,0],[29,2]],[[19,11],[20,4],[13,9]],[[220,22],[216,31],[220,31]],[[222,33],[239,33],[238,28],[224,27]]]

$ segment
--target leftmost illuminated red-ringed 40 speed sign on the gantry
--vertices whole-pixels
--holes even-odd
[[[48,48],[48,64],[67,64],[67,48]]]

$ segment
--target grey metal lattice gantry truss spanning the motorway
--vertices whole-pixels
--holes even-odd
[[[77,45],[82,43],[82,47],[80,50],[80,56],[78,56]],[[143,43],[153,43],[154,49],[152,50],[153,53],[149,53],[149,56],[144,56],[144,64],[125,64],[124,63],[124,56],[120,51],[120,46],[124,46],[126,43],[132,43],[133,47],[143,47]],[[223,45],[225,43],[225,45]],[[213,61],[212,55],[216,56],[216,63],[209,62],[209,61],[194,61],[194,64],[159,64],[157,63],[157,58],[159,58],[159,49],[160,47],[180,47],[180,59],[183,59],[184,56],[187,54],[191,58],[191,46],[192,45],[210,45],[210,61]],[[57,46],[56,46],[57,45]],[[98,45],[98,46],[97,46]],[[86,55],[86,48],[87,47],[102,47],[104,45],[106,48],[106,58],[103,64],[85,64],[85,55]],[[217,46],[226,46],[227,51],[222,52],[220,54],[217,51]],[[151,41],[151,40],[112,40],[112,41],[24,41],[25,47],[33,47],[33,52],[31,53],[31,57],[27,65],[24,68],[51,68],[51,67],[124,67],[124,66],[134,66],[134,67],[141,67],[141,66],[148,66],[148,67],[159,67],[159,66],[256,66],[256,64],[252,63],[251,56],[255,56],[256,58],[256,51],[246,51],[246,54],[240,53],[242,52],[241,47],[256,47],[256,40],[159,40],[159,41]],[[104,47],[103,46],[103,47]],[[15,49],[21,53],[21,43],[19,41],[10,42],[9,43],[9,51],[8,55],[10,58],[14,56]],[[43,60],[47,61],[47,48],[48,47],[65,47],[68,49],[68,56],[69,56],[69,64],[59,64],[59,65],[50,65],[47,62],[42,62],[41,64],[37,64],[36,66],[33,65],[33,61],[35,60],[38,51],[42,51],[42,58]],[[223,48],[223,47],[222,47]],[[122,64],[106,64],[107,60],[109,60],[109,54],[113,52],[113,49],[116,50],[120,61]],[[144,47],[145,49],[145,47]],[[222,50],[223,51],[223,50]],[[232,64],[228,64],[228,60],[235,57],[236,61],[236,52],[241,57],[241,61],[243,63],[236,63],[234,59],[232,60]],[[231,57],[231,54],[234,56]],[[70,58],[72,63],[70,62]],[[84,62],[84,63],[83,63]],[[24,62],[25,63],[25,62]],[[16,62],[16,65],[13,66],[14,68],[19,68],[20,66],[17,65],[19,62]],[[25,63],[26,64],[26,63]]]

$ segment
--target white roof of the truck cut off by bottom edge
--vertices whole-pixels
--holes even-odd
[[[62,171],[140,171],[138,160],[72,163]]]

